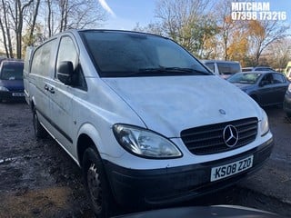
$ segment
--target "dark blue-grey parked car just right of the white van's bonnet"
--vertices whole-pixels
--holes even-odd
[[[234,74],[227,81],[236,84],[261,106],[282,105],[289,85],[284,74],[271,71]]]

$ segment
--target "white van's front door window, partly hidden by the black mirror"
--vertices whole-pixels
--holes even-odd
[[[70,61],[73,63],[73,85],[75,88],[86,89],[85,77],[82,71],[82,67],[78,62],[78,54],[74,45],[74,42],[69,36],[61,38],[61,43],[58,49],[56,69],[61,62]],[[55,74],[56,77],[56,74]]]

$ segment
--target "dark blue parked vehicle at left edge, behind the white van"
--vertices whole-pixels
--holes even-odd
[[[0,102],[24,99],[24,62],[3,61],[0,64]]]

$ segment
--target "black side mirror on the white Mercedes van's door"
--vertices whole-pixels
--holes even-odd
[[[61,62],[56,69],[57,78],[64,84],[70,85],[73,83],[73,63],[69,61]]]

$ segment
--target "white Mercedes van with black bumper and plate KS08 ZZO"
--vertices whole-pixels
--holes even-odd
[[[51,134],[82,168],[97,216],[214,192],[271,153],[264,110],[168,38],[70,30],[31,55],[35,136]]]

